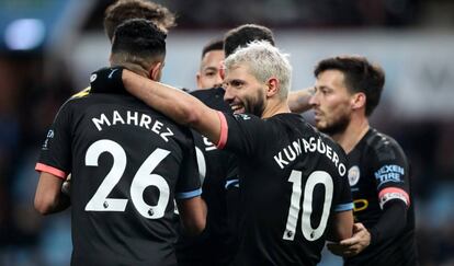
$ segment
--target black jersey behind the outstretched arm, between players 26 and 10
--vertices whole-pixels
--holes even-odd
[[[224,101],[224,93],[225,90],[222,88],[191,92],[211,108],[231,113],[230,106]],[[193,136],[202,181],[202,197],[208,209],[207,223],[201,235],[181,236],[177,245],[179,265],[228,265],[235,252],[235,244],[227,224],[225,184],[228,175],[235,171],[235,155],[218,150],[195,130]]]

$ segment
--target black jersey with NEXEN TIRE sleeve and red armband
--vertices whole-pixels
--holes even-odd
[[[417,265],[410,170],[402,149],[393,138],[371,128],[348,159],[355,221],[367,229],[374,227],[386,204],[393,200],[404,201],[408,209],[404,231],[348,258],[345,264]]]

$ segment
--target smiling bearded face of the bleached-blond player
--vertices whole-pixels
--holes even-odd
[[[226,101],[234,114],[253,114],[262,116],[265,106],[264,90],[266,85],[250,73],[249,67],[239,65],[226,72],[224,80]]]

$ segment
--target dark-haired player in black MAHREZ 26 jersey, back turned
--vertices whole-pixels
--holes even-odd
[[[149,21],[130,20],[114,36],[112,66],[159,81],[166,34]],[[189,232],[205,227],[191,131],[126,92],[66,102],[36,170],[35,208],[43,215],[67,206],[60,187],[72,173],[71,265],[177,265],[174,198]]]

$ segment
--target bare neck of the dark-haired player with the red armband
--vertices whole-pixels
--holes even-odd
[[[367,117],[352,117],[345,130],[339,134],[332,135],[332,139],[338,142],[345,153],[350,153],[354,147],[361,141],[361,139],[368,131]]]

